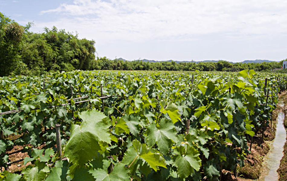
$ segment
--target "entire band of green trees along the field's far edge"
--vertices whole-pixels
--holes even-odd
[[[172,70],[172,71],[271,71],[281,62],[230,63],[218,62],[144,62],[141,60],[110,60],[95,57],[95,41],[79,39],[78,35],[44,28],[43,33],[29,31],[0,12],[0,76],[39,75],[49,71],[80,70]],[[286,59],[287,60],[287,59]]]

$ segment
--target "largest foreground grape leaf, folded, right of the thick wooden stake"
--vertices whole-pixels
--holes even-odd
[[[81,125],[72,124],[71,137],[65,148],[65,156],[74,164],[82,165],[101,150],[99,141],[111,141],[109,125],[103,120],[106,116],[96,110],[80,114]]]

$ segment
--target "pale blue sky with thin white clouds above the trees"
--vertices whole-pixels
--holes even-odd
[[[0,0],[0,12],[95,40],[109,59],[287,58],[286,0]]]

